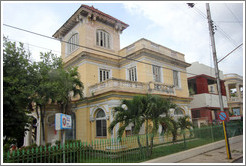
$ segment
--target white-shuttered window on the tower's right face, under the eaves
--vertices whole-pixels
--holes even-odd
[[[103,30],[97,30],[96,42],[98,46],[110,48],[110,35]]]

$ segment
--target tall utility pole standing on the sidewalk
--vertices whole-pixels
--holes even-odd
[[[216,56],[216,48],[215,48],[215,40],[214,40],[214,25],[213,25],[213,21],[211,19],[209,3],[206,3],[206,9],[207,9],[209,34],[210,34],[210,38],[211,38],[212,51],[213,51],[213,60],[214,60],[215,75],[216,75],[216,80],[217,80],[217,88],[218,88],[218,92],[219,92],[220,110],[224,111],[224,105],[223,105],[221,87],[220,87],[219,68],[218,68],[218,61],[217,61],[217,56]],[[229,140],[228,140],[228,136],[227,136],[225,121],[223,121],[223,128],[224,128],[224,135],[225,135],[225,141],[226,141],[227,156],[228,156],[228,159],[231,159],[231,151],[230,151],[230,145],[229,145]]]

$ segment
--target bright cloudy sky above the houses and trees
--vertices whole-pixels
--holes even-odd
[[[226,3],[225,3],[226,2]],[[210,2],[211,14],[219,26],[215,32],[218,59],[239,44],[244,43],[243,2]],[[52,36],[58,28],[80,7],[81,3],[60,2],[1,2],[2,23]],[[185,54],[188,63],[199,61],[213,67],[211,44],[206,19],[205,3],[189,8],[185,2],[127,1],[93,2],[93,5],[127,24],[121,34],[121,48],[140,38]],[[53,50],[60,55],[60,43],[1,26],[1,33],[9,39],[21,41],[38,60],[39,52]],[[34,46],[33,46],[34,45]],[[38,48],[36,46],[46,48]],[[227,73],[243,75],[244,46],[219,63],[219,69]]]

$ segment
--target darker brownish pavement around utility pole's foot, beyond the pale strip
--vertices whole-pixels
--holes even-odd
[[[215,149],[178,163],[230,163],[243,156],[243,142],[230,144],[232,159],[227,158],[226,148]],[[243,160],[239,160],[241,163]]]

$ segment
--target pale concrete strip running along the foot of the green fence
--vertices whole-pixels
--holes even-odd
[[[242,135],[236,136],[233,138],[229,138],[230,143],[237,143],[237,142],[242,141],[242,140],[243,140]],[[185,150],[182,152],[170,154],[167,156],[151,159],[151,160],[148,160],[148,161],[145,161],[142,163],[176,163],[176,162],[200,155],[202,153],[206,153],[206,152],[221,148],[223,146],[225,146],[225,140],[217,141],[214,143],[210,143],[207,145],[199,146],[199,147]],[[230,162],[233,162],[235,160],[233,159]]]

